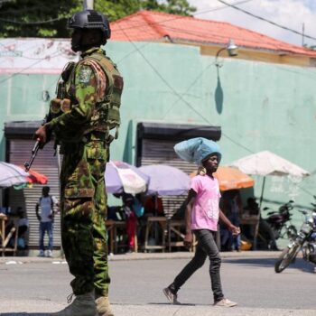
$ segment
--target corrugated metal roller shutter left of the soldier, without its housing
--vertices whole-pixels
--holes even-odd
[[[34,141],[29,139],[14,139],[9,141],[9,163],[23,166],[31,156]],[[51,188],[50,194],[60,200],[60,182],[59,182],[59,163],[58,156],[54,156],[53,143],[45,145],[43,150],[38,152],[33,162],[32,169],[46,175],[49,179],[48,185]],[[35,205],[42,195],[42,185],[34,184],[32,188],[24,188],[23,190],[9,190],[9,205],[14,210],[18,206],[26,209],[29,218],[30,228],[28,236],[28,246],[30,248],[38,248],[39,246],[39,222],[35,214]],[[45,237],[46,238],[46,237]],[[55,216],[53,231],[54,247],[60,248],[60,214]],[[45,245],[48,240],[45,239]]]

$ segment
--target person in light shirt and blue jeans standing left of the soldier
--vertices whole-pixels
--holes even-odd
[[[51,188],[48,186],[42,187],[42,197],[35,206],[36,217],[40,222],[40,253],[38,256],[45,256],[44,237],[47,233],[46,256],[52,257],[54,207],[58,206],[58,202],[54,196],[50,195],[50,190]]]

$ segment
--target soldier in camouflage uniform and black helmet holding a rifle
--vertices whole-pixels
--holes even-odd
[[[110,38],[107,17],[94,10],[74,14],[72,51],[81,60],[61,74],[58,98],[51,100],[48,123],[35,136],[46,144],[51,133],[60,144],[61,240],[75,300],[56,316],[113,315],[108,301],[107,194],[104,172],[109,131],[119,125],[123,79],[100,46]],[[60,84],[61,83],[61,84]],[[71,295],[72,298],[72,295]],[[70,298],[70,301],[71,301]]]

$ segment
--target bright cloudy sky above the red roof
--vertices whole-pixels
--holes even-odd
[[[281,24],[298,33],[304,33],[315,40],[283,30],[258,18],[220,3],[218,0],[188,0],[197,8],[194,16],[200,19],[232,23],[246,29],[263,33],[283,42],[302,46],[316,46],[316,0],[224,0],[251,14],[258,15],[273,23]],[[209,12],[208,12],[209,11]]]

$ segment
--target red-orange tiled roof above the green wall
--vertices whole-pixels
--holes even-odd
[[[316,57],[316,51],[278,41],[230,23],[154,11],[140,11],[126,16],[111,23],[111,29],[111,39],[115,41],[158,42],[167,36],[173,41],[222,46],[228,43],[228,39],[232,39],[239,47]]]

